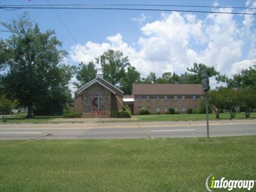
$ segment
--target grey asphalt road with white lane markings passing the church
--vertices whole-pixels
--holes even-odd
[[[206,122],[140,123],[152,138],[206,137]],[[256,120],[211,121],[210,137],[256,135]],[[0,140],[147,138],[135,123],[0,124]]]

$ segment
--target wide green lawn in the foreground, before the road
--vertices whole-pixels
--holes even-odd
[[[0,141],[0,191],[206,191],[210,174],[255,180],[255,143],[256,136]]]

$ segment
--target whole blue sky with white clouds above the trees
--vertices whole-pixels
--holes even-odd
[[[54,1],[51,4],[173,4],[256,7],[256,1]],[[7,4],[47,4],[46,0],[0,0]],[[150,8],[150,7],[149,7]],[[156,8],[156,7],[155,7]],[[159,7],[166,8],[166,7]],[[198,8],[167,7],[167,9]],[[211,11],[212,9],[200,9]],[[245,11],[213,9],[214,11]],[[10,21],[28,11],[41,30],[54,29],[71,65],[87,63],[102,51],[115,49],[128,56],[141,76],[154,71],[184,73],[194,62],[214,66],[230,76],[256,63],[255,15],[207,14],[162,11],[56,10],[79,43],[77,45],[52,10],[0,10],[0,20]],[[2,27],[0,27],[2,28]],[[0,38],[7,34],[1,33]],[[87,57],[83,54],[86,53]],[[75,81],[75,78],[73,79]],[[214,84],[212,79],[212,84]]]

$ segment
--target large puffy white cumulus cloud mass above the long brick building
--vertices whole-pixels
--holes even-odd
[[[250,6],[255,1],[247,3]],[[233,10],[221,8],[218,11]],[[158,76],[166,71],[185,73],[194,62],[214,66],[222,74],[231,75],[230,71],[247,68],[256,58],[256,30],[251,30],[253,18],[244,17],[243,28],[239,28],[237,22],[233,14],[211,13],[199,19],[196,14],[162,13],[161,19],[141,27],[138,50],[125,43],[121,34],[106,37],[101,50],[122,51],[141,76],[148,75],[150,71]],[[249,36],[247,31],[250,31]],[[247,58],[243,55],[244,39],[250,41]],[[99,44],[87,42],[71,47],[70,56],[74,61],[88,60],[79,47],[90,60],[99,55]]]

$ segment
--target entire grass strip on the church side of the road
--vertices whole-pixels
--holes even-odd
[[[140,122],[151,122],[151,121],[203,121],[206,119],[205,114],[173,114],[173,115],[134,115],[135,118]],[[256,118],[256,113],[251,113],[249,119]],[[215,120],[215,114],[209,114],[210,120]],[[230,119],[229,113],[220,114],[220,119]],[[244,113],[237,113],[234,119],[246,119]],[[123,122],[124,119],[115,118],[113,121],[108,122]],[[129,121],[131,119],[127,119]],[[84,119],[86,122],[87,119]],[[98,120],[99,122],[105,122],[102,119]],[[26,118],[26,114],[12,115],[9,116],[6,123],[59,123],[59,122],[73,122],[81,123],[83,119],[77,118],[66,118],[63,119],[62,116],[36,116],[34,118]],[[0,119],[2,122],[2,118]]]

